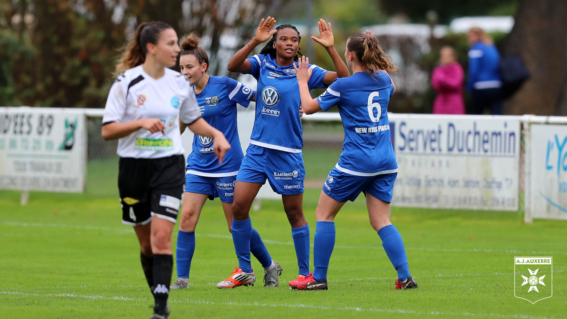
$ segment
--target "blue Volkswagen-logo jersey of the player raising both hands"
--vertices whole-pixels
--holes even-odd
[[[303,128],[299,119],[299,85],[293,65],[279,66],[270,54],[249,57],[250,70],[258,80],[256,119],[250,143],[265,148],[299,153],[303,148]],[[328,71],[310,64],[309,89],[325,87]]]

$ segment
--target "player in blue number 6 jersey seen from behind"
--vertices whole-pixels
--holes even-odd
[[[345,141],[338,163],[323,185],[317,205],[313,248],[315,271],[290,286],[307,290],[327,289],[327,268],[335,246],[333,220],[347,200],[354,202],[364,192],[370,225],[378,232],[382,246],[397,271],[396,289],[417,288],[409,275],[404,243],[389,217],[397,163],[388,122],[388,102],[395,87],[386,72],[395,72],[397,67],[370,31],[349,37],[345,58],[353,75],[337,79],[316,99],[309,95],[307,83],[311,70],[308,59],[302,57],[296,69],[304,112],[328,111],[338,105]]]

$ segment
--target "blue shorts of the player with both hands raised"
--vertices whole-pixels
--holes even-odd
[[[303,154],[250,144],[236,181],[264,184],[266,179],[277,194],[302,194],[305,179]]]

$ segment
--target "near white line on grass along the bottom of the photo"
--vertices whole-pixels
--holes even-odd
[[[75,295],[73,293],[23,293],[15,291],[0,291],[5,295],[23,295],[23,296],[43,296],[43,297],[73,297],[73,298],[84,298],[84,299],[104,299],[104,300],[131,300],[131,301],[145,301],[132,299],[127,297],[103,297],[103,296],[88,296],[88,295]],[[229,303],[216,303],[214,301],[206,300],[191,300],[187,299],[177,300],[169,299],[170,303],[189,303],[189,304],[203,304],[203,305],[227,305],[227,306],[241,306],[241,307],[269,307],[269,308],[306,308],[306,309],[323,309],[323,310],[346,310],[346,311],[356,311],[356,312],[384,312],[384,313],[399,313],[399,314],[411,314],[412,316],[467,316],[467,317],[496,317],[496,318],[522,318],[522,319],[543,319],[545,317],[532,317],[526,314],[498,314],[498,313],[470,313],[470,312],[417,312],[414,310],[405,309],[379,309],[379,308],[360,308],[360,307],[327,307],[322,305],[306,305],[306,304],[267,304],[267,303],[237,303],[236,301],[230,301]]]

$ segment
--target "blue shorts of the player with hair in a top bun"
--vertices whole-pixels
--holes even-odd
[[[234,182],[236,176],[206,177],[185,174],[185,191],[198,194],[209,194],[209,199],[221,198],[223,203],[232,203],[234,198]]]

